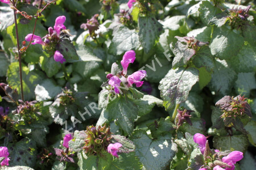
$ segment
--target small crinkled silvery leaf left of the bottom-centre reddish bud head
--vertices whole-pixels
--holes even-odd
[[[76,130],[73,139],[69,141],[69,147],[72,148],[74,152],[81,152],[84,146],[84,139],[86,139],[85,131]]]

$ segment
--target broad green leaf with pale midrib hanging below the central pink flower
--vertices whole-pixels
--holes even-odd
[[[126,133],[131,134],[134,128],[134,119],[137,118],[138,108],[129,98],[117,97],[111,101],[104,114],[108,115],[108,119],[116,120],[116,124]]]

